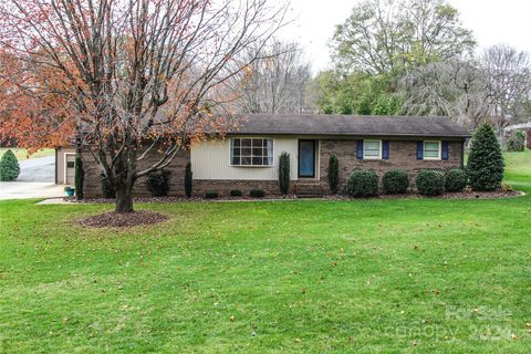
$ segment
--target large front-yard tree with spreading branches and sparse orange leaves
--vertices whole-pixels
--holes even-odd
[[[7,0],[0,43],[25,75],[45,69],[64,77],[21,92],[64,97],[81,144],[116,190],[116,212],[129,212],[138,178],[167,166],[190,138],[222,129],[212,108],[258,54],[240,65],[235,58],[260,53],[284,13],[268,0]],[[138,170],[153,149],[160,159]]]

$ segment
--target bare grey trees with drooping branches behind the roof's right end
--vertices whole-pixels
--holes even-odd
[[[488,49],[479,61],[451,59],[417,67],[400,84],[409,114],[445,115],[470,127],[489,119],[498,131],[529,118],[529,56],[506,45]]]

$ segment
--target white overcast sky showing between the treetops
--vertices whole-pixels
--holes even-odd
[[[279,0],[282,1],[282,0]],[[313,71],[330,66],[335,24],[343,23],[358,0],[291,0],[294,22],[281,38],[300,42]],[[507,43],[531,53],[531,0],[449,0],[465,28],[472,30],[479,50]]]

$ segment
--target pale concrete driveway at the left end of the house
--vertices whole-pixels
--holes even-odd
[[[55,185],[55,157],[19,162],[15,181],[0,181],[0,199],[55,198],[64,196],[64,186]]]

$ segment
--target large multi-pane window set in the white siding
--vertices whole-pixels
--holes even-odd
[[[273,166],[273,139],[231,138],[230,165]]]

